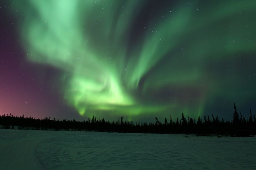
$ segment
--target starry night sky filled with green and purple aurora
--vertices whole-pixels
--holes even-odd
[[[255,0],[0,0],[0,113],[256,111]]]

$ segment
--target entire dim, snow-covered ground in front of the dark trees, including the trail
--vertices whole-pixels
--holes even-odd
[[[256,169],[256,137],[0,129],[0,169]]]

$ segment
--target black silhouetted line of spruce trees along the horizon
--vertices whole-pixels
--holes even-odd
[[[233,120],[224,121],[222,118],[212,114],[193,118],[165,118],[164,122],[155,117],[154,123],[124,121],[123,117],[117,121],[106,121],[104,118],[96,119],[95,115],[87,120],[55,120],[50,117],[36,119],[33,117],[18,117],[17,115],[0,115],[0,125],[3,129],[32,129],[32,130],[71,130],[71,131],[101,131],[101,132],[123,132],[123,133],[154,133],[154,134],[197,134],[197,135],[231,135],[250,136],[256,134],[256,117],[252,115],[251,109],[249,119],[238,113],[234,103]]]

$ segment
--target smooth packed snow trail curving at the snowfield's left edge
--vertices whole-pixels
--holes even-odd
[[[42,131],[0,129],[0,170],[43,170],[36,147],[50,137]]]

